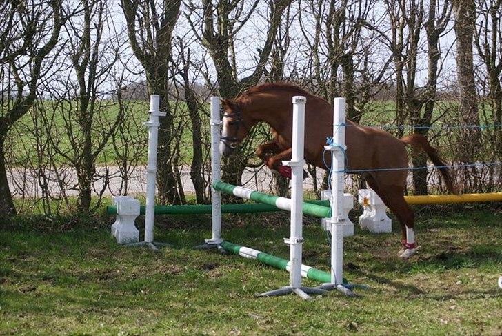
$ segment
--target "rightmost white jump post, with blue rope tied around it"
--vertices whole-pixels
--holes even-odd
[[[331,164],[331,218],[327,220],[331,231],[331,284],[319,286],[336,288],[345,295],[354,295],[343,286],[343,231],[346,221],[343,211],[343,179],[345,177],[345,98],[334,99],[333,141],[325,146],[332,152]]]

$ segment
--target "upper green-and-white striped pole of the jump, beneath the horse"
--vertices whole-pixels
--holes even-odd
[[[239,186],[234,186],[221,181],[216,181],[212,184],[215,190],[225,192],[225,194],[234,195],[244,199],[250,199],[261,204],[268,204],[269,206],[275,206],[281,210],[291,210],[291,199],[279,196],[272,196],[265,194],[263,192],[254,191],[248,188],[243,188]],[[325,201],[329,206],[329,201]],[[319,204],[313,204],[308,202],[303,202],[303,214],[312,215],[316,217],[326,218],[331,217],[331,208],[328,206],[322,206]]]

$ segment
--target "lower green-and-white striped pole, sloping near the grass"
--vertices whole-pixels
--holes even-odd
[[[278,268],[279,270],[287,270],[289,272],[289,261],[274,255],[269,255],[268,253],[263,253],[259,250],[254,250],[245,246],[240,246],[237,244],[232,244],[228,241],[223,241],[221,247],[224,248],[228,253],[233,253],[234,255],[240,255],[248,259],[257,259],[258,261]],[[328,283],[331,281],[331,275],[328,272],[323,272],[317,268],[313,268],[306,265],[301,265],[301,276],[314,281],[319,281],[322,283]]]

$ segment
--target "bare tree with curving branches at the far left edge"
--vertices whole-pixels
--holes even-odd
[[[54,71],[54,48],[64,21],[61,0],[8,0],[0,5],[0,215],[16,213],[6,175],[5,139],[33,106],[40,79]]]

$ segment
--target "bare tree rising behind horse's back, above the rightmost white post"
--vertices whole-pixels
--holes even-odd
[[[361,35],[369,26],[366,21],[374,1],[309,0],[305,3],[310,15],[299,15],[299,23],[305,43],[312,52],[315,80],[312,90],[328,101],[343,95],[348,118],[358,122],[361,110],[357,108],[360,88],[357,88],[356,76],[359,53],[362,53]],[[309,22],[311,18],[313,23]]]

